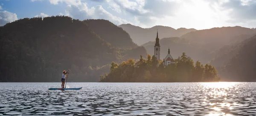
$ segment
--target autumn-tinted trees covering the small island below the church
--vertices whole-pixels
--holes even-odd
[[[159,66],[158,66],[159,65]],[[100,75],[100,82],[216,82],[220,77],[212,65],[194,62],[184,52],[174,64],[164,67],[154,56],[147,56],[135,64],[133,59],[111,63],[109,74]]]

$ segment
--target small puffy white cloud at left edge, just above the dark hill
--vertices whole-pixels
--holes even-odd
[[[15,20],[18,20],[15,13],[9,11],[0,11],[0,26],[5,25],[6,23],[11,23]]]

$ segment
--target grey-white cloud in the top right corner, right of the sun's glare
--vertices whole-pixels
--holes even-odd
[[[226,23],[256,27],[256,0],[212,0],[210,3],[214,10],[227,12]]]

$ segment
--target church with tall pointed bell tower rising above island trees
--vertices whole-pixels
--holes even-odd
[[[154,56],[157,57],[158,61],[160,61],[160,43],[159,43],[159,38],[158,38],[158,30],[157,30],[156,43],[154,45]],[[163,59],[162,64],[164,65],[164,67],[166,67],[167,65],[173,64],[173,63],[175,63],[175,61],[174,61],[174,59],[172,58],[172,56],[170,54],[170,48],[169,48],[168,49],[168,54],[165,57],[165,59]]]

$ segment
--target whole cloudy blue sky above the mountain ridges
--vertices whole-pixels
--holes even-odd
[[[56,15],[142,28],[256,28],[256,0],[0,0],[0,26],[23,18]]]

